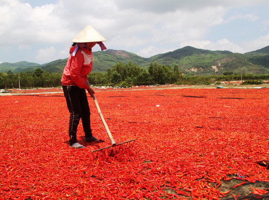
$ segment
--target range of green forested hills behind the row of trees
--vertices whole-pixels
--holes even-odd
[[[6,73],[11,70],[13,73],[19,73],[41,68],[43,71],[62,73],[66,61],[67,58],[43,65],[25,61],[13,64],[1,63],[0,72]],[[150,58],[143,58],[123,50],[109,49],[94,52],[93,72],[106,72],[108,68],[112,69],[118,62],[123,64],[132,62],[145,68],[154,62],[171,67],[177,65],[179,70],[186,75],[216,75],[223,72],[269,74],[269,46],[245,54],[230,51],[210,51],[186,46]]]

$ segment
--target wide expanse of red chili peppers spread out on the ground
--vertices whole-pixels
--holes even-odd
[[[68,145],[62,93],[0,97],[0,199],[221,199],[269,194],[269,89],[96,91],[99,144]]]

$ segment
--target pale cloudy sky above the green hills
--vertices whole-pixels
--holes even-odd
[[[65,59],[88,24],[108,49],[144,58],[185,46],[246,53],[269,45],[269,0],[0,0],[0,10],[0,63]]]

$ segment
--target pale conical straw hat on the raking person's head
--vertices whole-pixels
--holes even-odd
[[[87,25],[80,31],[79,34],[72,40],[76,43],[84,42],[102,42],[107,41],[97,30],[95,30],[91,25]]]

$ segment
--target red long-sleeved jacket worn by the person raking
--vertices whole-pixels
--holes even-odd
[[[78,86],[88,89],[88,74],[93,68],[93,55],[91,50],[86,48],[78,49],[75,56],[72,56],[75,46],[70,48],[70,56],[63,71],[63,86]]]

